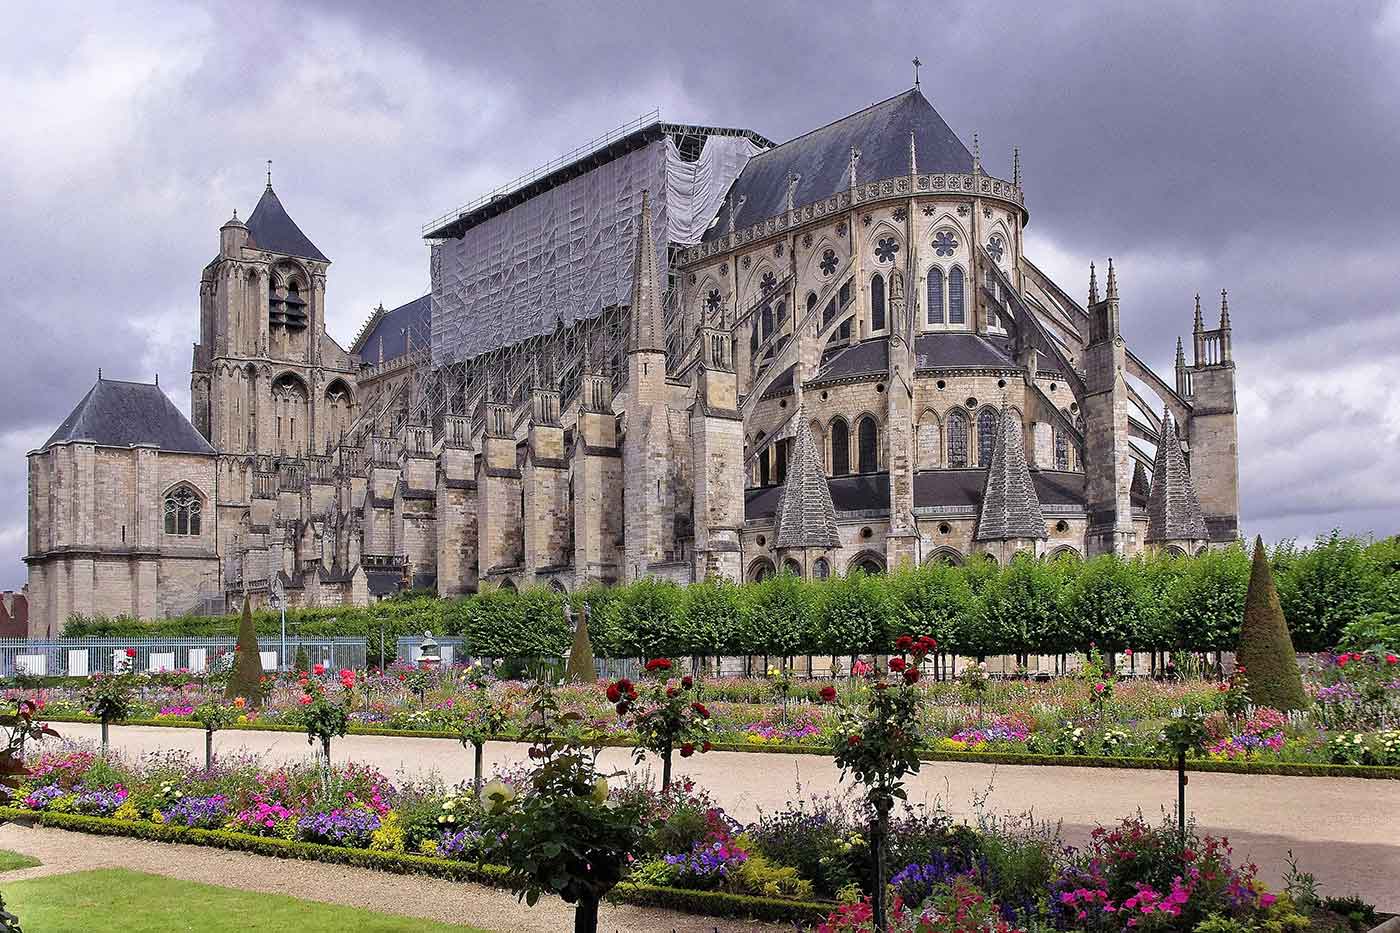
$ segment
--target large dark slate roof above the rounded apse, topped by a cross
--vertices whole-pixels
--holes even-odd
[[[787,210],[788,177],[794,174],[801,177],[792,192],[795,205],[850,188],[851,146],[861,153],[857,182],[907,175],[910,132],[918,171],[972,171],[972,153],[916,87],[750,158],[729,188],[728,205],[738,207],[735,224],[743,227]],[[725,206],[704,240],[717,240],[728,230]]]

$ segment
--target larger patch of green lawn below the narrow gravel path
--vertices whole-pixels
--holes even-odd
[[[101,869],[4,885],[6,908],[27,930],[78,933],[486,933],[407,916],[235,891],[158,874]]]

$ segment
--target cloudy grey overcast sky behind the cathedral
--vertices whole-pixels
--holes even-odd
[[[1400,0],[1389,3],[15,3],[0,34],[0,587],[25,452],[92,384],[188,410],[199,273],[263,161],[329,255],[329,326],[423,294],[420,226],[659,106],[783,140],[911,84],[1028,254],[1112,255],[1169,373],[1231,291],[1243,527],[1400,531]]]

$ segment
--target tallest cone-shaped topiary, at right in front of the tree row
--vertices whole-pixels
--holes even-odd
[[[1245,668],[1249,699],[1256,706],[1278,710],[1303,709],[1303,678],[1298,672],[1298,654],[1288,636],[1284,608],[1278,604],[1274,574],[1264,556],[1264,539],[1254,539],[1254,566],[1249,573],[1245,595],[1245,623],[1239,630],[1236,664]]]

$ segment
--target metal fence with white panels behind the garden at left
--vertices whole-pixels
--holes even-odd
[[[234,650],[237,639],[227,637],[158,637],[158,639],[0,639],[0,677],[87,677],[90,674],[160,672],[186,670],[207,671],[220,656]],[[297,649],[307,649],[311,664],[329,668],[363,668],[363,637],[262,637],[259,653],[265,671],[290,668]]]

